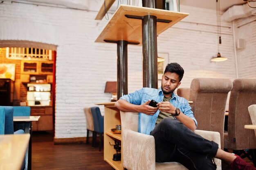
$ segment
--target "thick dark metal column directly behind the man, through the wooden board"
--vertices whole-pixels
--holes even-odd
[[[156,8],[155,0],[143,0],[143,7]],[[142,19],[143,87],[157,88],[157,17]]]

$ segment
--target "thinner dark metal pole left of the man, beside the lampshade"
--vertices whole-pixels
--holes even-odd
[[[117,100],[128,94],[127,45],[125,40],[117,41]]]

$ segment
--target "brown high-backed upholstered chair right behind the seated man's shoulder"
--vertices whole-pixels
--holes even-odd
[[[227,95],[231,91],[230,79],[196,78],[190,86],[191,110],[198,121],[198,130],[220,133],[224,145],[224,121]]]

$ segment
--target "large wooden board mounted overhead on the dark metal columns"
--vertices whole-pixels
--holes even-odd
[[[154,15],[157,19],[172,20],[170,23],[157,22],[157,35],[159,35],[188,16],[189,13],[121,5],[95,42],[105,42],[104,40],[126,40],[128,42],[139,43],[139,45],[142,45],[142,21],[139,19],[126,18],[125,15],[141,17],[145,15]]]

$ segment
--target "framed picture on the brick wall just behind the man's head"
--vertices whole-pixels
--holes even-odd
[[[157,74],[158,79],[162,79],[165,67],[169,63],[169,53],[157,53]]]

